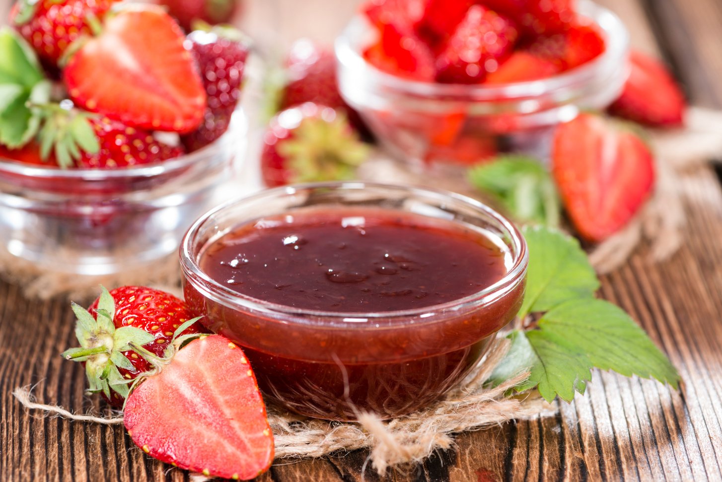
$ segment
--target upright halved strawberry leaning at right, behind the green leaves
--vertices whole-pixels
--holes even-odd
[[[578,233],[599,242],[622,229],[650,196],[654,161],[635,133],[582,113],[557,128],[552,174]]]

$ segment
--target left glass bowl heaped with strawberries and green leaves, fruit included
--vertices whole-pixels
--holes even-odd
[[[42,269],[173,253],[245,139],[248,43],[113,3],[21,0],[0,31],[0,246]]]

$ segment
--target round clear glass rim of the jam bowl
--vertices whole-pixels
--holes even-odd
[[[470,294],[463,298],[454,299],[451,302],[445,302],[441,304],[432,304],[418,308],[412,308],[409,310],[395,310],[395,311],[384,311],[384,312],[335,312],[325,310],[308,310],[297,307],[291,307],[285,304],[278,304],[272,302],[266,302],[262,299],[257,299],[249,296],[245,296],[238,292],[235,292],[227,287],[219,284],[217,281],[208,276],[204,271],[201,270],[199,263],[197,262],[197,253],[193,255],[191,252],[191,245],[198,234],[201,227],[212,218],[212,216],[219,214],[227,209],[234,208],[239,204],[251,203],[253,201],[260,201],[264,198],[275,198],[277,196],[292,196],[293,194],[303,190],[318,190],[325,188],[333,188],[338,190],[362,190],[366,187],[376,189],[393,189],[398,191],[407,191],[409,194],[418,193],[427,198],[436,198],[440,200],[453,201],[455,203],[461,203],[466,207],[471,207],[479,215],[488,216],[493,221],[500,224],[505,235],[510,238],[513,250],[517,253],[513,259],[513,266],[509,268],[507,273],[502,279],[497,281],[491,286],[479,290],[473,294]],[[222,237],[221,235],[215,235],[209,238],[208,242]],[[206,242],[207,244],[207,242]],[[324,183],[303,183],[295,185],[281,186],[278,188],[264,189],[258,193],[253,193],[250,196],[243,196],[236,198],[231,201],[220,204],[219,206],[207,211],[206,214],[201,216],[193,225],[188,229],[186,235],[183,237],[181,242],[181,248],[179,250],[179,258],[183,276],[186,282],[190,283],[194,289],[199,290],[202,296],[207,297],[206,294],[212,294],[215,301],[225,304],[235,310],[253,310],[262,312],[265,315],[269,315],[274,319],[282,317],[284,323],[300,323],[305,325],[323,325],[326,328],[334,328],[329,325],[328,320],[342,320],[344,322],[354,321],[366,321],[367,319],[375,320],[408,320],[409,318],[417,318],[420,315],[427,315],[430,323],[438,321],[439,315],[446,315],[448,312],[468,312],[484,305],[494,302],[500,294],[504,294],[506,291],[513,289],[526,274],[527,266],[529,265],[529,251],[526,246],[526,240],[519,229],[510,222],[505,216],[499,214],[494,209],[490,208],[486,204],[477,201],[476,199],[462,196],[458,193],[452,193],[447,190],[440,190],[435,188],[426,188],[416,185],[407,185],[401,183],[371,183],[366,181],[331,181]],[[197,280],[201,280],[206,286],[198,286]],[[220,298],[220,300],[215,299]],[[428,314],[436,315],[429,316]],[[445,317],[448,317],[445,316]],[[422,318],[422,323],[425,321]],[[388,326],[397,326],[401,323],[395,323]],[[360,325],[359,328],[362,328]],[[385,327],[387,325],[384,325]],[[336,325],[337,328],[337,325]],[[348,326],[347,326],[348,328]]]

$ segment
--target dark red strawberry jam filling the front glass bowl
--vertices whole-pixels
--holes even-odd
[[[521,306],[526,247],[513,227],[510,240],[401,209],[303,207],[235,225],[222,212],[188,234],[186,302],[243,346],[267,399],[298,413],[422,408]]]

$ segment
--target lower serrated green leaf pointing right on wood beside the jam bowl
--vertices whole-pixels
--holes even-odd
[[[510,351],[490,382],[498,385],[529,369],[529,379],[515,389],[536,387],[549,402],[557,395],[568,402],[576,392],[584,393],[594,367],[678,387],[677,369],[644,330],[622,309],[601,299],[561,304],[541,317],[538,329],[514,332],[510,338]]]

